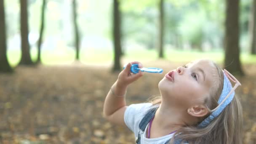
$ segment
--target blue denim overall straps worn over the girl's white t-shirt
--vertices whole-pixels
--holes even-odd
[[[147,112],[147,114],[142,118],[141,122],[139,123],[139,133],[136,137],[135,143],[136,144],[141,144],[141,136],[142,133],[144,133],[145,128],[147,127],[147,124],[149,123],[149,121],[152,119],[152,117],[155,116],[155,112],[157,110],[158,107],[154,107],[152,109],[149,109],[149,111]],[[168,141],[165,142],[165,144],[169,144],[171,141],[171,139],[169,139]],[[182,139],[175,139],[174,138],[174,144],[181,144]],[[185,141],[187,142],[187,141]]]

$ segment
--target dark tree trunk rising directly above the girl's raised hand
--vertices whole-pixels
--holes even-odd
[[[120,57],[121,57],[121,35],[120,35],[120,10],[119,0],[114,0],[114,19],[113,19],[113,37],[114,37],[114,67],[113,71],[120,71]]]

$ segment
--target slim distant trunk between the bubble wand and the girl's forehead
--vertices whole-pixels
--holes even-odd
[[[163,54],[163,38],[164,38],[164,4],[163,4],[163,0],[160,0],[159,3],[159,12],[160,12],[160,16],[159,16],[159,42],[158,42],[158,46],[159,46],[159,58],[163,58],[164,54]]]

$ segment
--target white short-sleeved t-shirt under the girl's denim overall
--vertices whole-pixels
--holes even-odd
[[[146,115],[147,110],[152,106],[151,103],[144,103],[144,104],[131,104],[127,107],[125,110],[124,120],[125,124],[130,128],[131,131],[133,131],[135,137],[138,136],[139,133],[139,123],[141,122],[144,115]],[[141,144],[164,144],[166,141],[171,139],[174,135],[168,134],[166,136],[161,136],[159,138],[154,139],[148,139],[146,137],[147,134],[147,127],[145,128],[145,131],[143,134],[141,134]]]

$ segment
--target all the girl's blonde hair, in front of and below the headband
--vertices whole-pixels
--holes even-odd
[[[214,62],[213,65],[216,67],[218,75],[213,82],[215,87],[211,88],[209,96],[205,99],[205,105],[209,109],[217,107],[217,101],[221,95],[224,81],[222,69]],[[161,98],[156,97],[151,102],[152,104],[160,104]],[[206,117],[208,115],[203,117],[203,119]],[[175,133],[177,134],[175,139],[186,140],[189,144],[242,144],[242,124],[242,106],[237,96],[234,96],[232,102],[208,126],[197,128],[197,125],[192,125],[179,128]],[[174,143],[174,137],[170,143]]]

